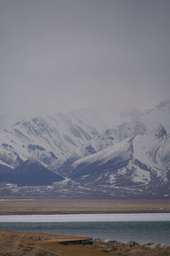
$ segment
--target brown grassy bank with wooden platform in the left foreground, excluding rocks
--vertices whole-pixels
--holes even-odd
[[[22,233],[0,230],[1,256],[105,256],[106,252],[83,245],[62,245],[61,240],[78,240],[79,237]],[[84,238],[82,238],[84,239]]]

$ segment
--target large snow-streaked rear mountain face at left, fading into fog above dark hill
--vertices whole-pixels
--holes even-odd
[[[0,159],[11,166],[27,159],[37,159],[48,165],[89,142],[98,132],[108,128],[112,119],[115,123],[120,122],[120,112],[91,107],[16,122],[0,130]]]

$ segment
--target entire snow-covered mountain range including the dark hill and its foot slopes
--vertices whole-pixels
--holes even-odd
[[[145,113],[91,107],[0,125],[1,193],[170,198],[170,101]]]

